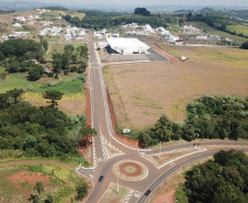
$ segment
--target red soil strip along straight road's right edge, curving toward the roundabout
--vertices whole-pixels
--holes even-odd
[[[115,128],[116,127],[116,117],[115,117],[115,114],[114,114],[113,103],[111,101],[110,93],[109,93],[108,89],[106,89],[106,99],[108,99],[108,103],[109,103],[111,122],[112,122],[112,127],[113,127],[113,131],[114,131],[114,137],[116,139],[119,139],[121,143],[123,143],[127,146],[135,147],[135,148],[143,147],[143,144],[140,144],[140,142],[135,140],[135,139],[128,139],[128,138],[123,137],[123,136],[121,136],[116,133],[116,128]]]

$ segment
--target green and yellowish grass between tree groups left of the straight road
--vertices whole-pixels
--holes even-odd
[[[0,74],[4,72],[3,68],[0,68]],[[26,80],[26,74],[11,74],[7,76],[7,79],[0,81],[0,93],[4,93],[14,88],[22,88],[25,90],[23,95],[25,101],[29,101],[33,105],[47,105],[45,99],[42,98],[42,93],[48,90],[58,90],[64,93],[63,99],[58,102],[58,109],[68,115],[75,115],[86,112],[86,90],[84,84],[80,80],[72,80],[77,74],[70,76],[59,75],[61,80],[55,80],[52,78],[44,78],[41,81]],[[54,87],[48,87],[48,83],[55,83]]]

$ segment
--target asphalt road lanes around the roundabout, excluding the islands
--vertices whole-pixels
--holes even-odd
[[[98,135],[93,137],[93,153],[94,153],[94,165],[91,169],[78,168],[77,171],[84,177],[89,178],[93,181],[94,188],[87,199],[88,203],[98,203],[105,190],[110,185],[111,182],[117,182],[116,176],[112,171],[112,167],[115,162],[124,159],[132,159],[144,163],[148,169],[148,176],[139,181],[126,181],[120,179],[120,184],[131,188],[137,192],[139,195],[132,195],[128,202],[140,202],[144,203],[147,200],[147,196],[144,195],[147,189],[154,191],[161,181],[172,174],[176,170],[181,167],[184,167],[191,162],[195,162],[205,157],[212,156],[219,149],[207,149],[205,151],[199,151],[189,156],[185,156],[181,159],[177,159],[172,162],[172,165],[167,165],[158,169],[153,162],[146,159],[143,155],[151,155],[158,154],[159,149],[156,150],[138,150],[135,148],[131,148],[125,146],[124,144],[117,142],[112,137],[112,146],[123,151],[122,155],[114,156],[109,158],[104,146],[102,143],[102,138],[104,137],[106,140],[110,140],[110,137],[113,135],[113,128],[110,120],[110,111],[109,104],[106,100],[106,92],[102,72],[101,61],[99,60],[95,45],[90,37],[88,43],[90,60],[89,60],[89,78],[90,78],[90,98],[91,98],[91,126],[94,127],[98,132]],[[245,142],[203,142],[201,143],[202,147],[206,146],[217,146],[222,145],[225,148],[228,148],[230,145],[239,146],[240,149],[247,150],[248,143]],[[167,146],[162,148],[162,151],[171,151],[178,150],[182,148],[192,148],[192,143],[178,144],[173,146]],[[246,148],[247,147],[247,148]],[[103,182],[99,182],[98,179],[100,176],[104,176]],[[143,195],[140,195],[143,194]]]

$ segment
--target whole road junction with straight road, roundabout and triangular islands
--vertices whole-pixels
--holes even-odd
[[[110,119],[110,110],[106,99],[106,89],[104,86],[102,65],[99,59],[95,44],[92,38],[88,43],[89,60],[89,81],[91,98],[91,127],[98,135],[92,137],[93,166],[92,168],[78,167],[76,171],[93,181],[94,187],[87,199],[88,203],[98,203],[102,200],[103,194],[111,183],[119,183],[131,190],[124,202],[144,203],[147,196],[144,194],[148,189],[151,192],[161,181],[168,178],[178,169],[213,156],[219,149],[239,148],[248,153],[248,143],[246,142],[203,142],[201,147],[195,150],[192,143],[178,144],[162,147],[159,149],[138,149],[126,146],[119,142],[113,135],[113,127]],[[158,155],[168,158],[162,162]],[[159,155],[159,158],[160,158]],[[117,172],[113,169],[120,162],[120,172],[125,176],[136,174],[139,166],[147,168],[145,178],[133,181],[133,179],[119,179]],[[156,162],[157,161],[157,162]],[[160,162],[159,162],[160,161]],[[133,163],[132,163],[133,162]],[[129,171],[128,171],[129,170]],[[99,182],[99,177],[104,176],[103,182]],[[123,174],[124,176],[124,174]]]

